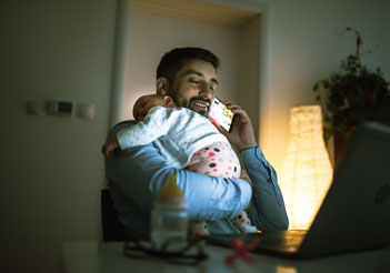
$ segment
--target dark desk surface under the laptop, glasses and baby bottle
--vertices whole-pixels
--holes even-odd
[[[130,259],[122,254],[123,243],[70,242],[62,247],[64,272],[67,273],[389,273],[390,250],[357,252],[351,254],[293,261],[268,255],[252,254],[251,265],[239,263],[231,269],[224,265],[230,249],[206,245],[209,259],[198,265],[178,265],[156,256]]]

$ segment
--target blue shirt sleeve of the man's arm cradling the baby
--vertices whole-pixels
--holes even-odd
[[[122,123],[111,134],[121,127],[131,125],[133,124]],[[131,200],[139,213],[150,212],[154,195],[168,182],[170,173],[177,175],[177,184],[184,193],[192,221],[231,219],[247,208],[251,200],[252,190],[248,182],[174,169],[152,143],[122,150],[112,159],[106,160],[107,179]],[[123,211],[122,215],[128,210],[117,209],[120,213]]]

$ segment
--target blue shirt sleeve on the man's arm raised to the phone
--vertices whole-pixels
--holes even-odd
[[[261,231],[287,230],[289,220],[278,176],[259,146],[241,152],[252,182],[252,203],[247,210],[251,223]]]

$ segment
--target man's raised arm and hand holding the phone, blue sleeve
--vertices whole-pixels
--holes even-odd
[[[231,133],[220,131],[239,149],[243,165],[251,179],[252,204],[248,209],[248,215],[252,224],[262,231],[287,230],[289,220],[277,173],[256,142],[251,121],[239,105],[231,102],[223,103],[236,114],[236,118]]]

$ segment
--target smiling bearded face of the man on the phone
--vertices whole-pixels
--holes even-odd
[[[208,117],[217,85],[217,71],[211,63],[191,61],[178,71],[168,93],[178,107]]]

